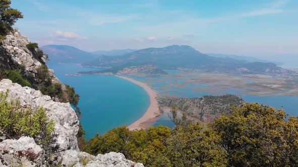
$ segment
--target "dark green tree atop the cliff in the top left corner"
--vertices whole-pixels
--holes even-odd
[[[12,26],[23,15],[19,10],[10,7],[10,0],[0,0],[0,35],[4,36],[12,30]]]

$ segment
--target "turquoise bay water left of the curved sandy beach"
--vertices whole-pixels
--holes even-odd
[[[150,100],[146,92],[128,80],[111,75],[65,76],[67,73],[98,70],[75,64],[48,64],[56,76],[75,88],[80,95],[81,123],[87,139],[96,133],[129,125],[147,110]]]

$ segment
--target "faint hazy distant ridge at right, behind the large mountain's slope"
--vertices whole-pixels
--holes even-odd
[[[260,59],[260,58],[256,58],[256,57],[250,57],[250,56],[239,56],[239,55],[235,55],[235,54],[221,54],[221,53],[206,53],[209,56],[213,56],[213,57],[228,57],[228,58],[232,58],[235,60],[244,60],[244,61],[249,61],[249,62],[272,62],[275,63],[277,65],[282,65],[281,62],[278,61],[269,61],[269,60],[265,60],[265,59]]]

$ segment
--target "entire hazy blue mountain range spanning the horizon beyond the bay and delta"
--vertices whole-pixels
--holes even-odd
[[[67,45],[46,45],[42,49],[45,53],[49,54],[50,62],[80,63],[83,66],[110,67],[111,69],[107,71],[113,73],[117,73],[117,71],[130,66],[140,67],[140,65],[155,65],[160,69],[198,69],[207,72],[289,72],[289,70],[283,69],[275,63],[266,60],[225,54],[207,55],[187,45],[171,45],[163,48],[146,48],[140,50],[96,51],[93,53]],[[260,60],[260,62],[255,62],[255,60]]]

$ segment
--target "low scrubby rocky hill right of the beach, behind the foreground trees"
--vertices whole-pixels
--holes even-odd
[[[181,112],[186,112],[190,118],[203,122],[212,122],[222,114],[232,113],[231,105],[240,106],[245,101],[236,95],[203,96],[198,98],[159,97],[162,107],[177,106]]]

